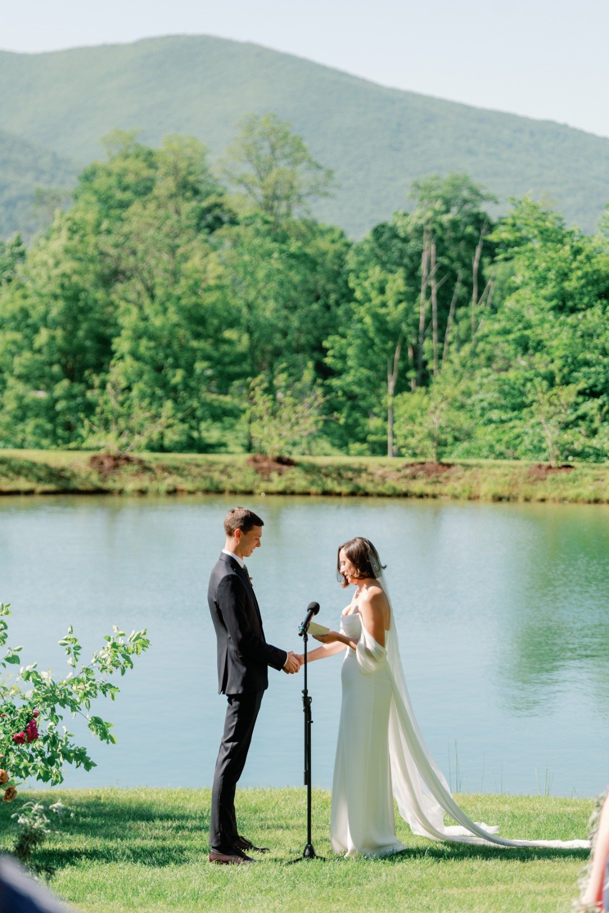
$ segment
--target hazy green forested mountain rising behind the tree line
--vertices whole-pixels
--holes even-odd
[[[72,163],[100,154],[113,127],[199,137],[222,153],[235,122],[274,111],[292,121],[338,191],[315,214],[363,235],[408,203],[413,178],[469,173],[501,200],[532,192],[593,231],[609,203],[609,139],[553,121],[386,89],[288,54],[216,37],[161,37],[45,54],[0,52],[0,130]],[[32,155],[15,183],[32,184]],[[48,159],[48,162],[51,160]],[[46,172],[45,172],[46,173]],[[15,184],[15,185],[16,185]],[[20,196],[19,199],[22,199]],[[5,203],[18,224],[23,202]],[[12,215],[11,215],[12,213]]]

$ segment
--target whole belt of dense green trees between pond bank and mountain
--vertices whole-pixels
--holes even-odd
[[[607,458],[609,210],[493,224],[431,176],[352,244],[306,217],[330,175],[274,116],[232,147],[241,198],[191,138],[105,146],[0,244],[0,446]]]

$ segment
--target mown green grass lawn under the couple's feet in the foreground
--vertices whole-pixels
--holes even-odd
[[[585,850],[501,849],[413,837],[386,859],[330,851],[330,793],[314,792],[314,844],[326,862],[285,864],[305,846],[305,790],[237,793],[242,834],[270,846],[255,866],[207,862],[209,790],[53,791],[74,812],[37,855],[57,866],[53,887],[76,908],[122,910],[569,910]],[[38,793],[48,802],[49,793]],[[548,796],[461,795],[476,821],[515,838],[587,836],[592,801]],[[14,839],[13,806],[0,806],[1,842]]]

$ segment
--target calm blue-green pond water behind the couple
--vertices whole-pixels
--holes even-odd
[[[593,795],[609,781],[609,509],[385,498],[239,498],[264,519],[248,561],[267,640],[300,651],[307,603],[336,626],[350,594],[336,547],[364,535],[387,563],[418,723],[453,790]],[[147,627],[150,651],[96,712],[116,746],[71,787],[211,785],[225,699],[217,694],[207,583],[237,500],[0,500],[0,599],[23,661],[58,673],[68,624],[83,656],[112,624]],[[313,781],[332,782],[340,662],[310,667]],[[67,668],[67,666],[66,666]],[[242,785],[298,785],[302,677],[270,687]]]

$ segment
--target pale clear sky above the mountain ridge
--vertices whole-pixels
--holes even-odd
[[[206,34],[609,136],[609,0],[4,0],[0,47]]]

